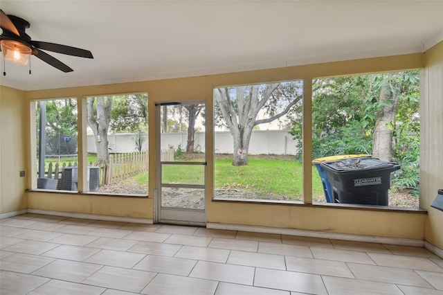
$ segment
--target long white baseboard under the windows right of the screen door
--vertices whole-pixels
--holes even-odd
[[[300,229],[280,229],[264,226],[250,226],[238,224],[206,223],[208,229],[227,229],[230,231],[252,231],[255,233],[277,233],[280,235],[300,235],[310,238],[324,238],[333,240],[347,240],[354,242],[370,242],[379,244],[396,244],[411,247],[424,247],[424,240],[388,238],[372,235],[352,235],[348,233],[327,233],[325,231],[305,231]]]

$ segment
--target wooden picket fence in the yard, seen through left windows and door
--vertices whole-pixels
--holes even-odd
[[[161,161],[174,161],[174,149],[162,150]],[[77,166],[77,163],[55,163],[48,165],[45,176],[51,179],[60,179],[65,167]],[[89,163],[89,166],[100,168],[100,186],[122,181],[129,177],[148,172],[149,152],[131,152],[124,154],[109,154],[109,164]],[[45,169],[46,170],[46,169]]]

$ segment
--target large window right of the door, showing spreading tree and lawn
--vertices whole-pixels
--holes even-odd
[[[300,147],[289,128],[301,119],[302,86],[214,89],[215,198],[301,201]]]

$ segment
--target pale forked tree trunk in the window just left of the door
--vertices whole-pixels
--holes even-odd
[[[105,165],[109,163],[108,132],[109,123],[111,123],[111,108],[111,96],[87,98],[87,120],[96,141],[97,161]]]

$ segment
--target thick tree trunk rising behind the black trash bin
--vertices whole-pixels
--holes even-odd
[[[377,113],[374,127],[374,143],[372,157],[392,161],[392,137],[394,136],[395,115],[397,114],[398,97],[391,90],[388,81],[383,82],[380,89],[379,102],[383,106]]]

